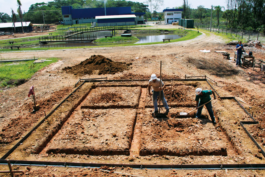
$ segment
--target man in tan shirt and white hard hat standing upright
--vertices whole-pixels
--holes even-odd
[[[149,80],[149,84],[148,84],[149,95],[151,95],[151,92],[150,92],[151,86],[153,87],[153,104],[155,107],[155,111],[153,113],[154,114],[158,113],[157,97],[159,96],[159,92],[161,92],[160,100],[162,101],[162,103],[166,109],[165,113],[168,114],[169,107],[168,107],[167,101],[165,100],[165,96],[164,96],[164,92],[163,92],[163,89],[165,89],[165,84],[161,81],[161,85],[160,85],[160,79],[157,78],[155,74],[152,74],[151,79]]]

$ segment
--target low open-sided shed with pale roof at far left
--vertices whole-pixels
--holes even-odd
[[[24,32],[31,32],[33,24],[31,22],[22,22]],[[22,32],[21,22],[15,23],[16,32]],[[0,32],[14,32],[14,24],[11,23],[0,23]]]

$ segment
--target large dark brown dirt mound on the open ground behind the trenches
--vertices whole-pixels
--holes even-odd
[[[115,62],[102,55],[93,55],[78,65],[74,65],[73,67],[67,66],[63,70],[79,76],[91,75],[93,73],[97,73],[98,75],[115,74],[127,69],[128,65],[130,64]]]

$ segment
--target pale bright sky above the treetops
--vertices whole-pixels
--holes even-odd
[[[20,0],[21,1],[21,9],[22,12],[27,12],[29,10],[29,7],[31,4],[35,4],[35,3],[40,3],[40,2],[45,2],[47,3],[48,1],[51,0]],[[145,2],[146,0],[130,0],[130,1],[134,1],[134,2]],[[4,12],[7,13],[9,15],[11,15],[11,8],[13,8],[14,12],[16,13],[16,9],[17,9],[17,3],[16,0],[0,0],[0,12]],[[211,5],[213,6],[224,6],[226,9],[226,2],[225,0],[220,0],[220,1],[213,1],[213,0],[188,0],[188,3],[191,4],[191,8],[193,9],[197,9],[197,6],[202,5],[205,8],[210,9]],[[181,6],[183,4],[183,0],[178,0],[178,1],[174,1],[174,0],[164,0],[164,5],[160,7],[160,9],[158,9],[158,12],[162,12],[163,9],[169,7],[170,9],[176,6]]]

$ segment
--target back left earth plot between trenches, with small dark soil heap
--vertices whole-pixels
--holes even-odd
[[[82,102],[83,109],[136,108],[141,87],[97,87]]]

